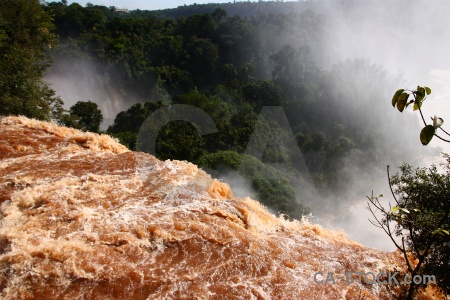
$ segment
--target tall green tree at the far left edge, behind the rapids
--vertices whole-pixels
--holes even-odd
[[[0,0],[0,114],[58,119],[62,101],[42,80],[56,44],[38,0]]]

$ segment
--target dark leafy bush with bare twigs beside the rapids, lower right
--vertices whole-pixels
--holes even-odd
[[[395,206],[385,207],[378,197],[367,197],[373,225],[383,229],[403,254],[407,272],[414,278],[434,275],[436,284],[450,292],[450,156],[446,173],[440,174],[436,166],[417,168],[400,167],[401,175],[389,175],[389,186]],[[376,211],[382,217],[377,216]],[[396,239],[400,238],[400,240]],[[414,293],[427,283],[412,282],[405,299],[413,299]]]

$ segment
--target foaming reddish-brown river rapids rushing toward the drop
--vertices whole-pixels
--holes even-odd
[[[106,135],[0,120],[2,299],[391,299],[398,287],[316,284],[402,269],[398,253],[290,222],[197,166]],[[431,296],[425,296],[424,299]]]

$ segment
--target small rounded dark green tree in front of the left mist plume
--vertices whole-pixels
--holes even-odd
[[[103,122],[102,111],[94,102],[78,101],[69,110],[70,115],[65,115],[63,124],[83,131],[98,132]]]

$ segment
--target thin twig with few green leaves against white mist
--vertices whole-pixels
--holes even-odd
[[[444,142],[450,143],[450,140],[444,139],[436,134],[436,130],[440,129],[445,135],[450,137],[450,134],[441,127],[444,123],[444,120],[442,118],[434,116],[434,118],[431,118],[433,124],[427,124],[427,122],[425,121],[421,107],[427,96],[430,94],[431,89],[427,86],[418,86],[417,89],[413,91],[399,89],[392,97],[392,106],[397,107],[400,112],[403,112],[403,110],[408,108],[409,105],[414,104],[413,109],[415,111],[419,111],[420,116],[422,117],[423,124],[425,125],[425,127],[420,132],[420,142],[422,143],[422,145],[428,145],[433,136],[436,136]],[[412,99],[409,100],[410,98]]]

